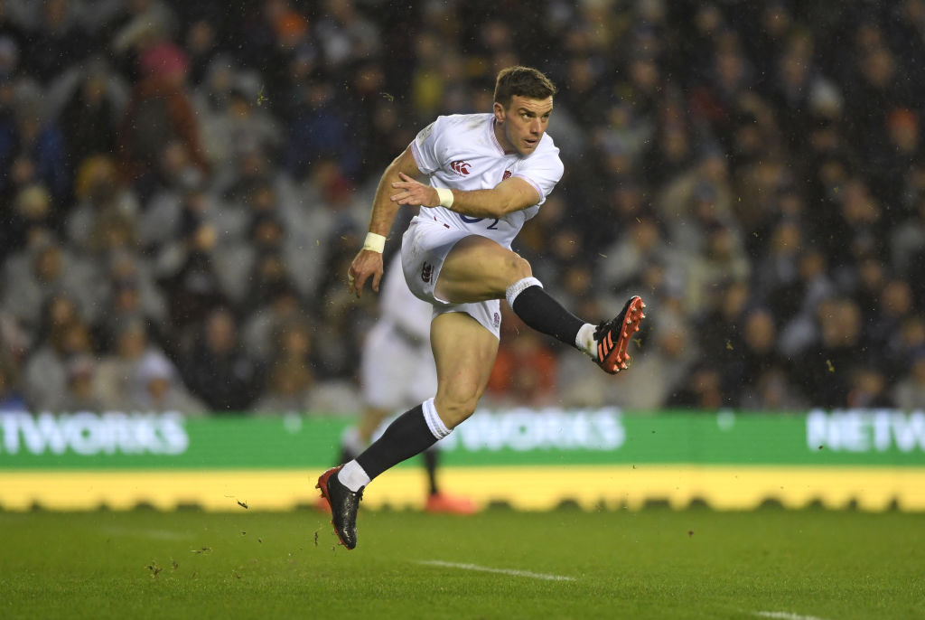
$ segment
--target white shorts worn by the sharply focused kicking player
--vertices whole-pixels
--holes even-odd
[[[401,268],[414,296],[434,306],[434,316],[464,312],[500,338],[501,304],[498,299],[473,304],[450,304],[434,294],[440,269],[457,242],[473,234],[451,229],[438,221],[415,216],[401,237]]]

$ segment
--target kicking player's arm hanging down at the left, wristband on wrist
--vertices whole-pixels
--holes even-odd
[[[379,179],[379,184],[376,187],[373,211],[369,217],[369,232],[388,237],[392,222],[395,220],[399,208],[401,208],[400,205],[391,200],[392,184],[401,181],[401,175],[404,175],[405,178],[412,178],[420,176],[420,174],[421,171],[418,169],[417,164],[414,163],[414,155],[412,155],[410,147],[392,160],[392,163],[382,173],[382,178]],[[357,297],[360,297],[363,294],[366,280],[372,278],[373,291],[378,292],[382,272],[382,253],[368,250],[364,247],[353,258],[348,271],[347,285],[349,290],[355,292]]]

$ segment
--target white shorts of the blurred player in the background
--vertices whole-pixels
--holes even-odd
[[[360,363],[364,403],[403,411],[437,394],[437,365],[429,341],[414,341],[388,321],[369,331]]]

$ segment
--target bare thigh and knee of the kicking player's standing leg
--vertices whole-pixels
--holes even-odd
[[[473,414],[498,354],[498,339],[472,316],[450,312],[434,318],[430,344],[437,362],[434,406],[447,428]]]

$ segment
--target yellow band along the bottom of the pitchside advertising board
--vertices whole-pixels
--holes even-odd
[[[292,510],[320,497],[304,469],[162,469],[0,471],[0,508],[28,511],[129,510],[139,504],[160,510],[199,505],[238,511]],[[714,510],[752,510],[775,500],[799,509],[813,502],[827,508],[877,512],[925,510],[922,467],[574,465],[456,467],[442,470],[448,488],[480,506],[508,502],[518,510],[549,510],[569,500],[588,510],[639,510],[648,501],[684,509],[696,500]],[[577,483],[576,483],[577,481]],[[397,467],[376,478],[364,495],[366,508],[421,508],[424,478],[413,467]]]

